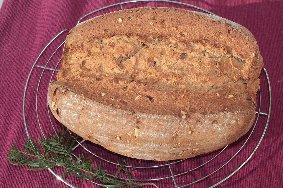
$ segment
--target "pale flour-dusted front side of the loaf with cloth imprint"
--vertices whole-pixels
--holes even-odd
[[[51,83],[48,101],[51,109],[51,101],[56,101],[51,110],[56,119],[84,139],[145,160],[175,160],[212,152],[238,140],[255,117],[253,110],[193,113],[186,120],[133,113],[75,94],[61,81]]]

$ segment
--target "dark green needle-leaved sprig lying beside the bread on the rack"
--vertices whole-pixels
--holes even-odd
[[[118,162],[120,165],[114,178],[109,177],[106,174],[106,169],[101,169],[102,161],[93,169],[93,157],[87,159],[80,155],[78,158],[72,156],[72,148],[75,145],[78,137],[73,139],[73,134],[68,137],[67,130],[62,129],[61,136],[50,135],[49,138],[37,140],[42,147],[43,152],[40,151],[39,145],[37,145],[32,139],[27,139],[27,144],[24,145],[24,151],[20,151],[12,143],[12,148],[7,153],[8,161],[13,165],[29,166],[27,170],[44,170],[55,166],[62,166],[65,168],[63,177],[68,174],[76,177],[77,179],[85,179],[87,181],[99,180],[102,187],[114,188],[114,187],[142,187],[144,185],[153,185],[153,183],[133,183],[131,181],[132,169],[130,172],[126,170],[124,164],[125,161]],[[120,171],[123,170],[126,174],[128,181],[121,181],[116,179]]]

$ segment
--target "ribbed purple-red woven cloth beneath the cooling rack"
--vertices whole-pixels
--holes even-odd
[[[5,159],[7,157],[6,151],[10,150],[11,142],[20,146],[27,137],[22,117],[24,85],[32,64],[40,51],[57,33],[63,29],[71,29],[75,26],[81,16],[117,2],[122,1],[4,0],[0,12],[0,187],[67,187],[67,185],[58,181],[48,170],[33,172],[26,171],[24,167],[12,166]],[[235,21],[248,28],[258,41],[261,55],[264,58],[264,67],[269,73],[271,82],[272,115],[261,145],[242,169],[218,187],[282,187],[283,1],[247,0],[232,2],[227,0],[200,0],[182,2],[202,7],[218,16]],[[164,3],[140,3],[140,6],[153,5],[173,6],[172,4]],[[132,8],[136,7],[136,5],[129,4],[125,5],[126,7]],[[183,8],[185,7],[183,6]],[[113,10],[119,10],[119,6],[107,9],[104,12]],[[65,37],[65,35],[62,37]],[[43,58],[46,59],[46,57]],[[35,68],[29,83],[30,90],[36,87],[41,71],[42,69]],[[262,97],[265,103],[262,110],[267,112],[266,103],[268,95],[264,74],[261,75],[261,80]],[[46,88],[41,90],[40,96],[46,99]],[[34,101],[34,94],[31,97],[27,97],[27,120],[29,121],[29,132],[32,138],[41,135],[35,118],[35,109],[31,105],[34,104]],[[44,119],[44,115],[40,118]],[[238,167],[255,147],[262,133],[265,120],[259,121],[259,127],[253,133],[251,142],[248,142],[246,149],[239,154],[239,157],[235,158],[233,165],[229,165],[220,171],[213,179],[205,179],[200,184],[193,185],[192,187],[208,187]],[[48,124],[46,118],[42,121],[42,125]],[[235,153],[233,148],[238,148],[239,143],[243,143],[243,140],[231,145],[229,150]],[[103,149],[101,151],[105,153]],[[106,152],[106,155],[109,153]],[[226,152],[225,155],[228,156],[229,153]],[[225,160],[225,155],[221,159]],[[120,159],[118,155],[113,155],[113,157],[113,161],[116,158]],[[197,159],[195,160],[197,161]],[[182,171],[188,169],[189,165],[186,166],[185,164],[176,165],[173,170]],[[207,172],[211,171],[208,169],[206,171],[205,169],[195,176],[202,177]],[[167,174],[167,171],[157,169],[155,174]],[[134,175],[139,176],[137,173]],[[152,176],[153,174],[148,174],[144,177],[150,178]],[[184,175],[177,178],[176,181],[178,185],[183,185],[188,178],[190,178],[190,175]],[[195,178],[192,177],[192,179]],[[74,178],[68,178],[68,181],[77,187],[98,187],[92,183],[79,181]],[[173,187],[172,179],[159,181],[157,185],[161,188]]]

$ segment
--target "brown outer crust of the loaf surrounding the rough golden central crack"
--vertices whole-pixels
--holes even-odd
[[[131,20],[128,14],[131,15]],[[150,24],[153,16],[154,27]],[[121,22],[117,21],[119,18],[122,19]],[[180,33],[186,33],[186,37],[182,38]],[[188,89],[186,91],[189,95],[185,95],[185,99],[177,98],[181,101],[180,104],[170,103],[169,100],[163,106],[154,103],[149,104],[148,108],[148,103],[141,100],[142,104],[147,104],[144,108],[137,108],[134,104],[123,106],[120,103],[110,107],[108,105],[111,104],[111,99],[101,98],[101,92],[107,89],[110,89],[109,93],[113,92],[111,89],[115,84],[103,83],[106,87],[102,90],[99,84],[96,85],[99,82],[89,85],[85,78],[71,78],[70,75],[75,74],[69,68],[68,56],[90,38],[113,34],[172,36],[184,45],[188,45],[186,41],[195,41],[207,48],[217,48],[223,54],[233,54],[234,58],[246,63],[231,78],[232,82],[223,88],[211,91],[209,88]],[[196,36],[199,36],[197,40]],[[250,129],[255,117],[255,95],[262,66],[263,60],[254,36],[243,26],[227,19],[175,8],[144,7],[116,11],[85,21],[69,32],[62,68],[57,75],[58,81],[52,82],[48,90],[48,103],[57,120],[70,130],[121,155],[147,160],[194,157],[230,144]],[[89,92],[90,90],[97,93]],[[227,97],[231,90],[232,99]],[[172,96],[172,100],[176,100],[177,91],[168,94],[169,91],[166,90],[152,90],[156,99],[163,98],[166,92],[169,99]],[[125,98],[128,96],[126,92],[122,95]],[[117,93],[115,97],[121,98]],[[189,114],[185,120],[182,119],[180,111],[185,109],[182,101],[194,98],[192,110],[186,109]],[[127,99],[130,100],[130,96]],[[60,108],[60,116],[56,113],[57,108]],[[135,127],[139,127],[138,138],[135,137]]]

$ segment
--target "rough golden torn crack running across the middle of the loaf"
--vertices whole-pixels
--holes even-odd
[[[119,83],[140,81],[158,89],[214,89],[242,78],[242,70],[249,66],[230,50],[225,52],[224,46],[210,49],[208,44],[185,44],[173,37],[115,35],[83,43],[83,48],[68,55],[69,71],[59,74],[59,79],[107,78]]]

